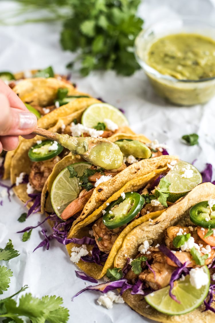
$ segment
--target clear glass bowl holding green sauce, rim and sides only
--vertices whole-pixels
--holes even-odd
[[[163,75],[147,64],[149,49],[159,38],[179,33],[199,34],[215,40],[215,27],[198,18],[174,17],[142,30],[135,39],[135,56],[155,92],[177,105],[194,105],[209,101],[215,95],[215,77],[181,80]],[[214,73],[215,74],[215,73]]]

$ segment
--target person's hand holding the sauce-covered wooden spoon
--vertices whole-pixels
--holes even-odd
[[[36,116],[29,112],[15,92],[0,80],[0,153],[14,150],[18,136],[34,138],[31,132],[36,127]]]

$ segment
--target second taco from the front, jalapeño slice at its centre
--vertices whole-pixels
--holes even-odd
[[[190,184],[192,179],[195,178],[193,186],[189,185],[187,191],[183,192],[183,195],[201,182],[201,176],[198,176],[196,181],[196,175],[199,172],[186,162],[178,161],[170,169],[171,163],[175,160],[177,160],[175,156],[161,156],[151,160],[140,161],[137,164],[141,164],[142,168],[132,180],[121,186],[119,191],[112,192],[112,196],[109,197],[107,195],[106,201],[91,215],[81,222],[77,223],[76,221],[75,225],[73,224],[67,235],[68,240],[72,239],[71,244],[66,246],[70,255],[71,252],[73,253],[73,250],[76,250],[75,248],[82,247],[80,244],[83,244],[83,242],[79,243],[76,239],[83,241],[85,236],[90,237],[89,234],[92,234],[91,245],[86,243],[84,247],[86,249],[84,253],[87,254],[87,257],[82,257],[81,259],[79,257],[77,263],[84,272],[96,279],[104,276],[107,270],[113,266],[114,257],[121,248],[127,234],[134,227],[149,221],[149,219],[152,221],[153,218],[160,216],[172,204],[168,199],[173,201],[173,197],[174,199],[179,198],[178,193],[173,193],[171,190],[179,179],[181,186],[187,186],[188,179],[182,176],[186,172],[183,168],[187,167],[185,169],[192,169],[193,171],[193,178],[189,178]],[[154,163],[150,165],[152,161]],[[151,166],[151,172],[146,172],[144,175],[144,169],[146,170],[147,164],[148,167]],[[126,170],[129,171],[129,168],[132,169],[132,166],[129,166],[116,176],[124,178]],[[170,179],[170,182],[168,182],[168,179]],[[110,190],[113,186],[114,179],[109,186]],[[165,186],[169,191],[164,189]],[[92,256],[90,256],[90,252],[93,252]],[[75,253],[73,253],[73,256],[77,259]],[[106,262],[103,262],[103,267],[101,266],[102,261],[99,261],[99,259],[105,259]]]

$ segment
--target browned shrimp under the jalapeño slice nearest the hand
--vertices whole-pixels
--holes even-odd
[[[42,192],[45,181],[51,174],[54,165],[60,160],[61,158],[59,156],[55,156],[47,161],[33,162],[31,172],[29,174],[29,182],[35,190]]]

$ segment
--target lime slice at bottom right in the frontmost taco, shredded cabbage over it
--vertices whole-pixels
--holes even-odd
[[[181,304],[169,296],[170,286],[161,288],[145,296],[146,302],[159,312],[169,315],[181,315],[189,313],[200,306],[208,294],[210,286],[210,273],[207,266],[202,267],[208,275],[208,284],[196,289],[190,283],[190,275],[184,280],[176,280],[172,288],[172,294]]]

